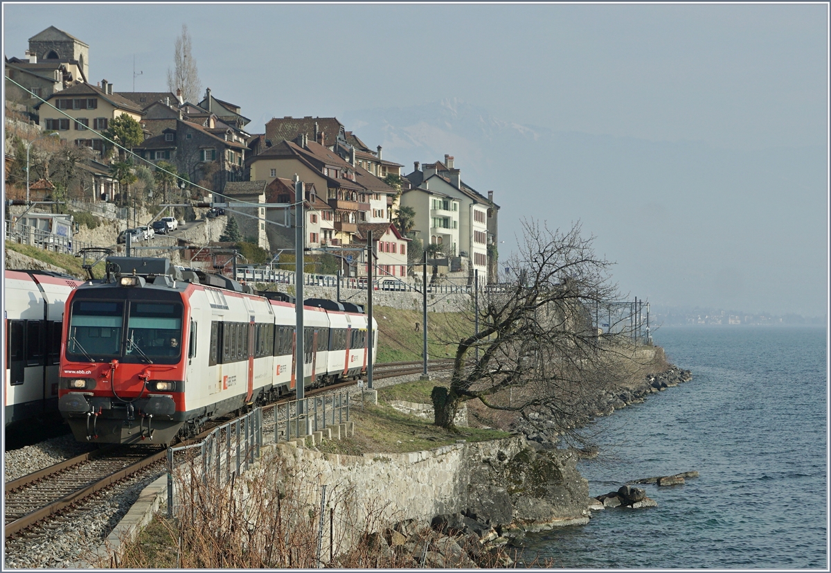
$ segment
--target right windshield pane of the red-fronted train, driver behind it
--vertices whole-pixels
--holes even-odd
[[[181,353],[182,305],[131,301],[125,358],[175,363]]]

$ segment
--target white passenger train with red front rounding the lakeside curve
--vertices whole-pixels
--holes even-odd
[[[65,315],[58,410],[82,442],[168,445],[297,384],[354,380],[377,349],[361,306],[307,299],[298,381],[291,297],[165,258],[108,257]]]

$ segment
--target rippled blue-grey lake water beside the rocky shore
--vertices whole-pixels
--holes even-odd
[[[611,459],[580,462],[597,496],[641,486],[651,509],[593,511],[529,551],[567,568],[828,567],[824,328],[661,328],[656,344],[693,379],[601,418]]]

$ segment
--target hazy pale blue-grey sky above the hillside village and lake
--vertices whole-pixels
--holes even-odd
[[[273,116],[358,117],[456,100],[507,124],[580,136],[585,152],[575,152],[559,171],[568,176],[559,178],[544,146],[536,156],[529,146],[523,165],[515,157],[501,161],[498,146],[490,146],[491,156],[482,146],[474,160],[454,149],[423,156],[385,145],[385,158],[409,172],[413,161],[454,155],[462,178],[477,190],[494,189],[504,205],[505,247],[515,245],[522,215],[554,226],[582,220],[598,249],[617,261],[622,289],[639,298],[825,313],[827,4],[6,3],[3,51],[24,57],[27,38],[54,25],[90,45],[92,82],[106,78],[116,91],[132,91],[135,57],[135,72],[142,72],[135,90],[164,91],[183,23],[203,86],[242,106],[252,133]],[[381,138],[377,126],[347,129],[373,148],[382,143],[367,137]],[[572,149],[572,141],[557,149]],[[608,144],[594,156],[604,165],[592,161],[598,141]],[[626,141],[632,145],[617,145]],[[698,161],[718,165],[691,170],[682,161],[685,146]],[[649,168],[664,152],[671,161]],[[640,161],[643,153],[650,161]],[[625,174],[621,189],[628,203],[643,205],[637,225],[651,231],[649,248],[637,234],[622,234],[611,215],[592,214],[602,211],[598,200],[621,197],[612,188],[617,175],[598,175],[611,164],[637,171]],[[524,185],[548,187],[541,195],[548,205],[524,206],[526,191],[505,187],[519,170]],[[578,194],[583,179],[596,181],[593,192]],[[749,180],[758,182],[755,190],[742,186]],[[667,200],[656,200],[661,195]],[[685,211],[697,219],[686,220]],[[708,212],[719,225],[706,225],[710,217],[701,214]],[[781,264],[785,277],[771,273]],[[763,287],[765,280],[789,289]],[[724,288],[714,289],[719,281]]]

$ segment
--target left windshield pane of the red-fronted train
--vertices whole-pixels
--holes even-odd
[[[120,356],[124,302],[76,300],[72,303],[66,358],[79,362]]]

